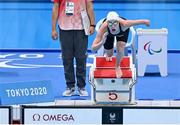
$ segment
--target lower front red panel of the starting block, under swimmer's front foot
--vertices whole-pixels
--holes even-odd
[[[132,78],[132,71],[130,68],[122,68],[121,78]],[[94,78],[116,78],[115,68],[98,68],[94,71]]]

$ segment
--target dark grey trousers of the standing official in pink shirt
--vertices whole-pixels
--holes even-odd
[[[88,36],[84,30],[60,29],[60,43],[67,87],[74,87],[76,80],[78,87],[85,87]]]

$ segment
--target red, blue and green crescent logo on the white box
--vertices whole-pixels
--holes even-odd
[[[155,53],[160,53],[162,52],[162,48],[159,48],[158,50],[154,50],[151,47],[151,42],[149,41],[144,45],[144,50],[147,51],[150,55],[154,55]]]

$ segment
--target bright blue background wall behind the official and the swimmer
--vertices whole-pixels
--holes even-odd
[[[178,3],[94,3],[94,8],[96,22],[111,10],[128,19],[148,18],[149,28],[168,28],[168,49],[180,50]],[[51,10],[52,3],[0,3],[0,49],[59,48],[51,39]],[[89,37],[89,47],[94,37]]]

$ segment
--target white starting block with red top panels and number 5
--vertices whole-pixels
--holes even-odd
[[[97,56],[90,68],[91,97],[96,104],[133,104],[135,102],[136,68],[132,58],[120,62],[121,78],[116,77],[116,58],[106,61]]]

